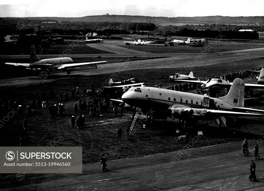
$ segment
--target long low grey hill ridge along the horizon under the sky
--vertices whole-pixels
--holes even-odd
[[[4,19],[21,19],[15,17],[4,17]],[[28,18],[24,18],[28,19]],[[244,24],[255,25],[264,23],[264,16],[253,17],[228,17],[228,16],[206,16],[206,17],[149,17],[149,16],[131,16],[131,15],[96,15],[85,17],[34,17],[30,19],[51,19],[59,23],[69,22],[162,22],[164,25],[175,23],[185,24]]]

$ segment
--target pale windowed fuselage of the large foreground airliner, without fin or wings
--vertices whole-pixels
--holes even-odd
[[[212,99],[213,102],[210,102],[210,99]],[[232,103],[227,104],[217,98],[153,87],[130,88],[129,91],[122,95],[122,100],[134,107],[161,110],[166,110],[171,106],[172,108],[189,107],[209,109],[213,107],[211,103],[214,102],[216,102],[216,106],[222,110],[232,110],[235,106]]]

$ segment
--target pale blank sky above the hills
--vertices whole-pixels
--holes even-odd
[[[264,16],[264,0],[0,1],[0,17],[83,17],[106,13],[156,17]]]

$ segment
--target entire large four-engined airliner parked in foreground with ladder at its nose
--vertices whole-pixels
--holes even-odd
[[[121,100],[119,100],[121,101]],[[153,87],[132,87],[122,95],[122,101],[136,107],[136,111],[152,118],[170,117],[185,122],[192,120],[214,120],[220,117],[264,116],[248,113],[264,110],[244,108],[244,81],[236,78],[228,94],[211,98],[198,94]]]

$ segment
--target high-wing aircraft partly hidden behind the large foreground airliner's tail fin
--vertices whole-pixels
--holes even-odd
[[[229,89],[230,86],[232,86],[233,83],[230,83],[228,81],[225,81],[223,79],[216,79],[212,78],[209,79],[208,81],[194,81],[194,80],[179,80],[175,79],[174,82],[177,83],[196,83],[196,84],[201,84],[200,92],[202,94],[210,93],[210,88],[227,88]],[[260,71],[260,76],[258,77],[257,84],[245,84],[245,98],[252,98],[252,97],[260,97],[264,95],[264,68],[261,69]]]

